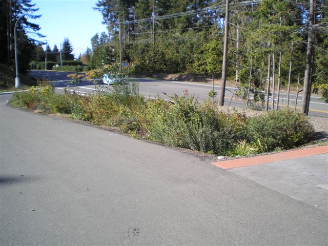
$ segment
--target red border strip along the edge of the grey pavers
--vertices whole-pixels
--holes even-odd
[[[222,168],[222,169],[231,169],[231,168],[240,168],[246,166],[253,166],[262,163],[280,161],[280,160],[289,160],[311,155],[319,155],[328,153],[328,146],[321,146],[316,148],[301,149],[301,150],[292,150],[286,151],[271,155],[261,155],[249,158],[241,158],[235,160],[225,160],[212,162],[213,165]]]

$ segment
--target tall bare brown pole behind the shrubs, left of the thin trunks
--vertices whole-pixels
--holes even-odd
[[[226,0],[226,17],[224,18],[224,43],[223,43],[223,61],[221,76],[221,91],[219,97],[219,106],[224,105],[224,94],[226,92],[227,66],[228,66],[228,31],[229,31],[229,0]]]

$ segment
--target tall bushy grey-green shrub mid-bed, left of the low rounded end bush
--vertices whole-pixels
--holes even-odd
[[[173,103],[163,114],[162,121],[153,121],[153,139],[169,146],[216,154],[223,153],[234,143],[233,128],[220,119],[223,114],[217,114],[211,103],[201,106],[188,95],[175,97]]]

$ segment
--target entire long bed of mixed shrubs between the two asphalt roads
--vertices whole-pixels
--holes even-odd
[[[49,85],[14,93],[15,107],[68,114],[95,125],[115,127],[135,138],[217,155],[247,156],[285,150],[311,141],[308,118],[288,110],[247,117],[224,113],[211,103],[197,103],[188,94],[171,101],[139,95],[137,84],[118,84],[112,93],[89,96],[53,93]]]

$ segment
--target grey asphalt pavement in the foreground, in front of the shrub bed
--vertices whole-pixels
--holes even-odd
[[[328,214],[187,153],[0,95],[1,245],[327,245]]]

